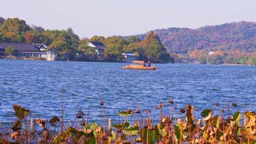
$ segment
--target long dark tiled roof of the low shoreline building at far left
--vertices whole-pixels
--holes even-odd
[[[0,42],[0,47],[5,49],[8,46],[13,46],[15,50],[24,51],[24,52],[38,52],[39,49],[35,48],[33,44],[25,44],[25,43],[5,43]]]

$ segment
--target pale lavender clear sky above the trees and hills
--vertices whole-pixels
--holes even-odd
[[[168,27],[256,22],[256,0],[1,0],[0,17],[82,37],[129,36]]]

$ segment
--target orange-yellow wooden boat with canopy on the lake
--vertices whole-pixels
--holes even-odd
[[[158,67],[156,66],[150,66],[146,67],[144,61],[132,61],[132,64],[128,66],[122,66],[122,69],[133,69],[133,70],[155,70]]]

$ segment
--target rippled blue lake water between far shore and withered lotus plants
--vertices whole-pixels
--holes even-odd
[[[122,65],[127,63],[0,60],[0,122],[9,121],[13,104],[29,108],[31,117],[61,117],[63,88],[66,119],[73,119],[79,108],[87,113],[90,106],[90,120],[100,120],[100,98],[107,117],[114,119],[119,110],[137,105],[142,112],[151,109],[158,119],[155,106],[168,105],[171,97],[176,113],[187,103],[199,112],[216,109],[216,102],[220,108],[229,105],[230,113],[256,110],[254,66],[169,63],[156,64],[155,71],[135,71],[122,70]],[[233,102],[238,107],[232,107]]]

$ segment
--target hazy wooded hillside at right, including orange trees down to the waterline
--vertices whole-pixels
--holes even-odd
[[[197,29],[156,29],[176,61],[199,60],[201,63],[256,64],[256,23],[234,22]],[[138,35],[144,39],[146,34]],[[209,55],[209,52],[216,52]],[[212,59],[212,61],[210,61]]]

